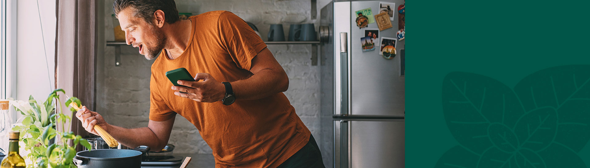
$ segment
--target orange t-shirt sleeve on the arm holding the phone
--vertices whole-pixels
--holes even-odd
[[[266,43],[248,24],[231,12],[219,15],[219,35],[238,68],[250,70],[252,59],[266,48]]]

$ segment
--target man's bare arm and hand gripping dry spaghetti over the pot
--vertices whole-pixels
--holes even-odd
[[[103,117],[97,112],[91,112],[83,107],[76,113],[76,117],[82,122],[82,126],[90,133],[99,135],[94,130],[94,125],[103,127],[117,142],[127,147],[140,145],[149,146],[152,151],[162,150],[170,138],[175,117],[163,122],[149,120],[148,127],[126,129],[106,123]]]

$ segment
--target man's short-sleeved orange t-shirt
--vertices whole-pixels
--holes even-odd
[[[191,39],[176,59],[164,50],[152,65],[149,119],[165,121],[178,113],[191,122],[213,150],[216,167],[277,167],[309,140],[289,99],[276,93],[257,100],[201,103],[174,95],[166,71],[186,68],[209,73],[219,82],[252,75],[250,64],[266,44],[238,16],[212,11],[191,16]]]

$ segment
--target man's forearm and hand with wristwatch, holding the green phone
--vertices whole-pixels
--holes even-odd
[[[289,88],[287,73],[268,48],[264,48],[252,59],[250,72],[254,74],[250,78],[231,82],[235,98],[261,99]],[[197,102],[217,102],[224,98],[225,86],[215,80],[214,76],[197,73],[195,80],[197,82],[178,80],[178,84],[184,86],[172,86],[173,90],[177,90],[174,94]]]

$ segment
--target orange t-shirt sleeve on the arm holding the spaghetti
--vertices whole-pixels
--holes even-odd
[[[176,112],[173,112],[172,109],[166,105],[166,102],[164,102],[153,74],[149,82],[149,90],[149,119],[156,122],[163,122],[174,117]]]

